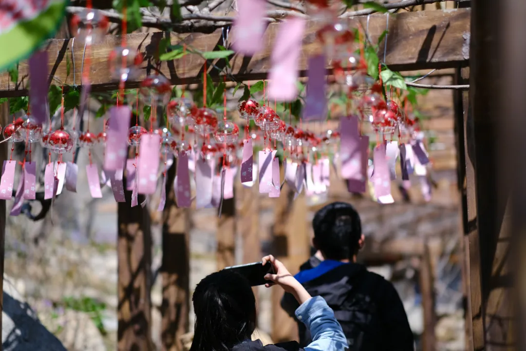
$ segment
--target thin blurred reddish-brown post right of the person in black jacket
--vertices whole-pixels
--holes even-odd
[[[424,252],[420,263],[420,288],[422,290],[422,307],[424,314],[424,332],[422,335],[423,350],[433,351],[436,347],[434,327],[436,315],[434,312],[434,274],[431,264],[429,244],[424,243]]]

